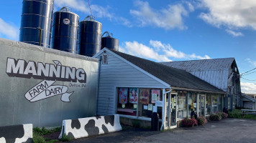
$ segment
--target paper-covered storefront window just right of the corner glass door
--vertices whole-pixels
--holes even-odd
[[[188,116],[186,109],[187,92],[179,92],[178,94],[178,118],[185,118]]]

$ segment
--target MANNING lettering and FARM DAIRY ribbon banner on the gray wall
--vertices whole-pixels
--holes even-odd
[[[42,82],[36,84],[25,93],[25,98],[29,102],[37,102],[57,95],[61,95],[61,101],[70,102],[69,97],[73,92],[68,92],[67,86],[56,85],[55,82],[86,83],[86,72],[81,68],[63,66],[57,60],[54,60],[53,63],[55,64],[7,58],[6,74],[9,77],[43,79]]]

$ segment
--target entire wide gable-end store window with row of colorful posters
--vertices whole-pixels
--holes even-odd
[[[118,92],[117,114],[139,117],[151,117],[152,112],[157,112],[162,118],[163,102],[160,89],[138,89],[120,87]],[[156,107],[156,104],[158,107]]]

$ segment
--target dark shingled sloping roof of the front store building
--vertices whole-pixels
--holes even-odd
[[[152,74],[163,82],[169,84],[170,87],[172,87],[173,89],[193,89],[197,90],[198,92],[204,91],[225,94],[223,90],[218,89],[207,82],[204,82],[203,80],[193,76],[192,74],[184,70],[175,69],[170,66],[165,66],[163,64],[147,59],[142,59],[137,56],[124,54],[119,51],[110,51],[112,51],[114,54],[117,54],[118,56],[121,56],[123,59],[131,62],[132,64],[140,67],[141,69],[147,71],[148,73]],[[99,55],[99,53],[97,55]]]

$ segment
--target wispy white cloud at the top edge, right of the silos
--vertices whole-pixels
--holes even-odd
[[[150,7],[147,1],[135,1],[134,5],[138,7],[137,10],[130,10],[130,14],[137,18],[140,26],[157,26],[163,29],[187,29],[183,24],[183,17],[188,16],[190,11],[193,11],[193,6],[190,3],[188,10],[183,4],[168,5],[166,9],[155,10]]]

